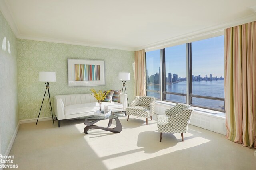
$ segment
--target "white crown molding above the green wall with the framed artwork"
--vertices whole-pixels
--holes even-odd
[[[130,48],[130,47],[84,43],[84,42],[79,42],[79,41],[66,41],[66,40],[63,40],[63,39],[37,37],[37,36],[31,36],[31,35],[18,35],[17,38],[18,39],[34,40],[34,41],[44,41],[44,42],[50,42],[50,43],[62,43],[62,44],[70,44],[70,45],[81,45],[81,46],[87,46],[87,47],[98,47],[98,48],[105,48],[105,49],[134,51],[134,48]]]

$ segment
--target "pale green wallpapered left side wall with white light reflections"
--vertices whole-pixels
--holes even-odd
[[[18,125],[16,37],[0,12],[0,154],[4,155]]]

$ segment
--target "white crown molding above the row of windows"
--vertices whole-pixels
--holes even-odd
[[[218,25],[215,25],[212,27],[200,29],[200,30],[190,32],[187,34],[172,37],[170,39],[166,39],[163,41],[158,41],[156,43],[144,45],[144,46],[135,48],[135,51],[138,51],[141,49],[145,49],[145,51],[152,51],[152,50],[161,49],[161,48],[165,48],[165,47],[171,47],[171,46],[182,44],[182,43],[188,43],[190,40],[196,39],[197,37],[202,37],[202,39],[203,39],[206,37],[214,37],[214,36],[218,36],[218,35],[223,35],[224,29],[226,29],[226,28],[234,27],[234,26],[241,25],[244,23],[249,23],[252,21],[256,21],[256,14],[252,14],[252,15],[242,17],[242,18],[239,18],[236,20],[221,23],[221,24],[218,24]]]

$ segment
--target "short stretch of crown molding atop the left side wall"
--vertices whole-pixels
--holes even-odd
[[[5,3],[5,0],[0,0],[0,10],[2,14],[4,15],[4,18],[6,19],[7,23],[12,29],[12,32],[17,37],[20,34],[20,31],[12,17],[12,14],[10,13],[9,7]]]

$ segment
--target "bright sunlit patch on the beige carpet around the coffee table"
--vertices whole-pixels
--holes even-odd
[[[101,121],[99,124],[106,126],[107,122]],[[132,126],[132,123],[128,125]],[[80,133],[84,133],[84,124],[75,126]],[[108,169],[120,168],[210,142],[192,133],[184,133],[184,142],[181,141],[180,133],[164,133],[160,143],[159,135],[156,125],[152,124],[125,127],[121,133],[90,129],[87,135],[84,134],[84,139]]]

